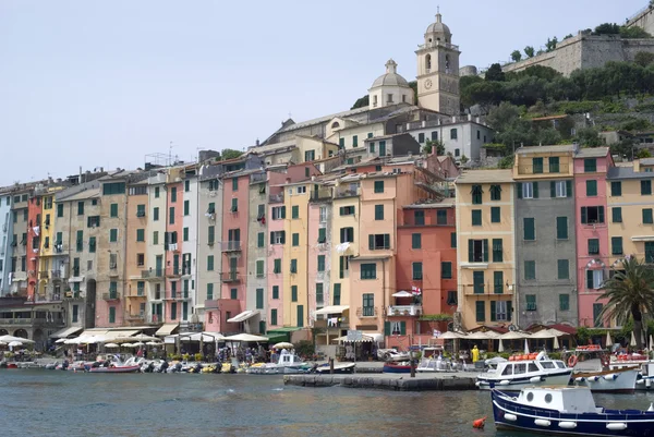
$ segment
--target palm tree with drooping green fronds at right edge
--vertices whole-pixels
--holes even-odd
[[[608,300],[600,317],[615,318],[619,325],[633,317],[633,330],[638,349],[642,349],[643,314],[654,314],[654,268],[627,256],[622,270],[602,286],[604,294],[598,299]]]

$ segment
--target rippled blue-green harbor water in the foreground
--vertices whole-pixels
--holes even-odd
[[[283,386],[281,376],[0,371],[5,436],[498,436],[487,391]],[[597,394],[646,409],[653,392]],[[483,430],[472,421],[487,415]]]

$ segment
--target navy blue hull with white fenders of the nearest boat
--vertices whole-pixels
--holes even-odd
[[[654,412],[603,410],[602,413],[561,413],[513,402],[493,390],[493,416],[498,428],[567,436],[652,436]]]

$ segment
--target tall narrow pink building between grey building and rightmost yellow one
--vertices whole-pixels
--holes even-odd
[[[606,172],[614,162],[608,147],[582,148],[574,156],[574,198],[577,201],[577,295],[579,325],[602,326],[598,314],[605,302],[598,290],[608,278],[608,217]]]

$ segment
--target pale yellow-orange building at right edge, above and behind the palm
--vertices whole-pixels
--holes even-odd
[[[609,264],[627,255],[654,263],[654,159],[609,168],[606,177]]]

